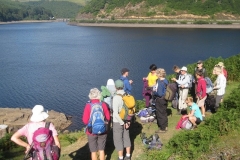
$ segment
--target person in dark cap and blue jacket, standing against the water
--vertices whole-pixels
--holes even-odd
[[[123,68],[121,70],[122,76],[120,77],[120,79],[123,81],[124,84],[124,92],[127,94],[131,94],[132,91],[132,86],[131,84],[133,83],[132,80],[128,80],[128,74],[129,74],[129,69],[127,68]]]

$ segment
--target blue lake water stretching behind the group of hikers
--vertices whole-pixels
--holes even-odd
[[[66,23],[0,25],[0,107],[42,104],[73,116],[80,129],[89,90],[130,69],[142,99],[150,64],[165,68],[240,53],[240,30],[78,27]]]

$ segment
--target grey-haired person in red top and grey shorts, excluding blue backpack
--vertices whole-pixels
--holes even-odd
[[[85,125],[89,123],[89,120],[91,118],[91,109],[92,109],[91,104],[97,104],[97,103],[101,104],[105,119],[107,122],[109,122],[110,111],[105,102],[100,102],[101,92],[97,88],[93,88],[90,90],[88,97],[90,99],[90,103],[87,103],[84,108],[83,117],[82,117],[83,123]],[[89,144],[92,160],[97,160],[97,152],[99,152],[100,160],[104,160],[105,159],[104,150],[105,150],[105,145],[107,140],[107,131],[105,133],[96,135],[96,134],[90,133],[89,130],[87,129],[86,134],[88,137],[88,144]]]

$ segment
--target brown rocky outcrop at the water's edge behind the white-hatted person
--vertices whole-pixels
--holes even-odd
[[[52,122],[58,131],[67,128],[72,122],[63,113],[48,111],[47,121]],[[7,132],[15,132],[26,123],[32,115],[32,110],[27,108],[0,108],[0,125],[7,125]],[[1,129],[0,129],[1,130]]]

